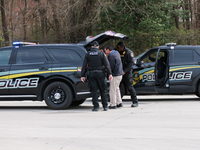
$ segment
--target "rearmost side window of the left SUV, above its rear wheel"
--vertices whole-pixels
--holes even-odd
[[[70,49],[51,49],[50,53],[54,56],[57,61],[80,61],[82,58],[79,54]]]

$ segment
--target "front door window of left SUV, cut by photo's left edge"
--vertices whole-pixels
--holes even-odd
[[[9,63],[11,52],[11,49],[0,51],[0,65],[7,65]]]

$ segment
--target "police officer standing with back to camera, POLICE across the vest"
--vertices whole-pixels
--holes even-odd
[[[91,43],[91,50],[85,55],[83,66],[81,70],[81,80],[85,82],[86,72],[89,72],[89,88],[92,93],[93,110],[98,111],[98,89],[100,90],[102,105],[104,111],[107,111],[108,97],[107,97],[107,84],[105,80],[105,69],[109,75],[109,80],[112,80],[112,73],[110,64],[105,54],[99,50],[99,44],[97,41]]]

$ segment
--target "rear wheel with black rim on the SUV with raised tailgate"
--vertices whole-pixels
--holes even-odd
[[[63,82],[53,82],[46,87],[44,100],[50,109],[66,109],[73,100],[72,90]]]

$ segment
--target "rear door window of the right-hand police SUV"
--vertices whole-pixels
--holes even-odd
[[[171,62],[193,62],[193,50],[173,50]]]

